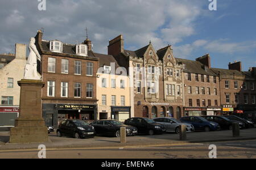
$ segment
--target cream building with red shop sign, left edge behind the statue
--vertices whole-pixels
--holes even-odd
[[[14,126],[18,117],[20,87],[26,64],[26,45],[16,44],[15,55],[0,55],[0,126]]]

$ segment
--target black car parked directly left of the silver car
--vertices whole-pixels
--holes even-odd
[[[129,118],[125,120],[125,125],[137,127],[138,134],[162,134],[166,131],[163,125],[156,123],[149,118]]]

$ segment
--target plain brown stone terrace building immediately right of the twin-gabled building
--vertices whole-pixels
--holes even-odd
[[[210,56],[196,61],[176,59],[184,64],[185,115],[217,115],[221,113],[219,78],[210,68]]]

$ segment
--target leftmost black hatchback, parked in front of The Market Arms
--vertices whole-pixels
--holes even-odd
[[[67,119],[60,122],[57,136],[73,136],[74,138],[94,137],[94,127],[78,119]]]

